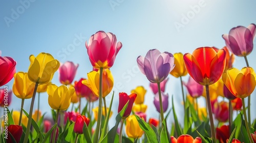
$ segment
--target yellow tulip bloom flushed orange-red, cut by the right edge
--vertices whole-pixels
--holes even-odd
[[[237,98],[250,96],[256,85],[256,75],[252,67],[244,67],[241,70],[229,68],[223,73],[222,80]]]

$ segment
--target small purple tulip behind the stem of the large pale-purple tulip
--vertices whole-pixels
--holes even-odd
[[[162,105],[163,105],[163,112],[165,112],[168,108],[168,93],[164,94],[163,92],[161,92],[161,96],[162,96]],[[154,98],[154,105],[157,108],[157,111],[160,113],[160,102],[159,102],[159,96],[155,96]]]

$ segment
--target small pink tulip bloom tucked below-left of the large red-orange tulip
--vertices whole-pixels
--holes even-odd
[[[198,84],[192,77],[189,77],[188,82],[183,85],[187,88],[188,93],[193,98],[199,98],[203,94],[203,85]]]

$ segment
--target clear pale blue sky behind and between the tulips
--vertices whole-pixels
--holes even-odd
[[[29,56],[40,52],[50,53],[60,62],[73,61],[79,64],[75,76],[75,80],[79,80],[86,78],[92,70],[85,41],[97,31],[112,32],[123,44],[111,68],[115,80],[113,115],[117,113],[118,93],[130,93],[136,86],[142,85],[147,89],[145,103],[148,105],[148,120],[158,113],[154,106],[150,106],[153,105],[154,95],[146,77],[138,71],[137,57],[145,56],[151,49],[184,54],[192,53],[201,46],[222,48],[225,46],[222,34],[233,27],[256,23],[255,6],[256,1],[252,0],[1,1],[0,50],[2,56],[10,56],[17,61],[17,71],[27,72]],[[248,56],[253,68],[256,68],[255,54],[253,50]],[[244,59],[236,57],[233,66],[241,69],[245,66]],[[170,96],[169,109],[173,95],[180,121],[183,121],[180,81],[171,75],[168,78],[166,92]],[[187,78],[183,80],[187,81]],[[52,82],[60,85],[57,72]],[[8,85],[12,87],[12,83],[13,80]],[[253,92],[252,103],[256,100],[255,96]],[[40,99],[40,109],[51,116],[48,94],[41,94]],[[111,96],[106,99],[108,105],[110,99]],[[19,110],[20,101],[13,95],[10,108]],[[27,111],[30,102],[25,101]],[[252,105],[254,108],[255,104]],[[252,118],[255,117],[256,114],[252,113]],[[111,118],[111,123],[115,122],[114,118]],[[169,120],[172,121],[173,117],[169,116]]]

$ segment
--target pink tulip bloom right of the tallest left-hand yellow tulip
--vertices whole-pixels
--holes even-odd
[[[59,66],[59,81],[61,84],[71,84],[75,78],[78,64],[67,61]]]

